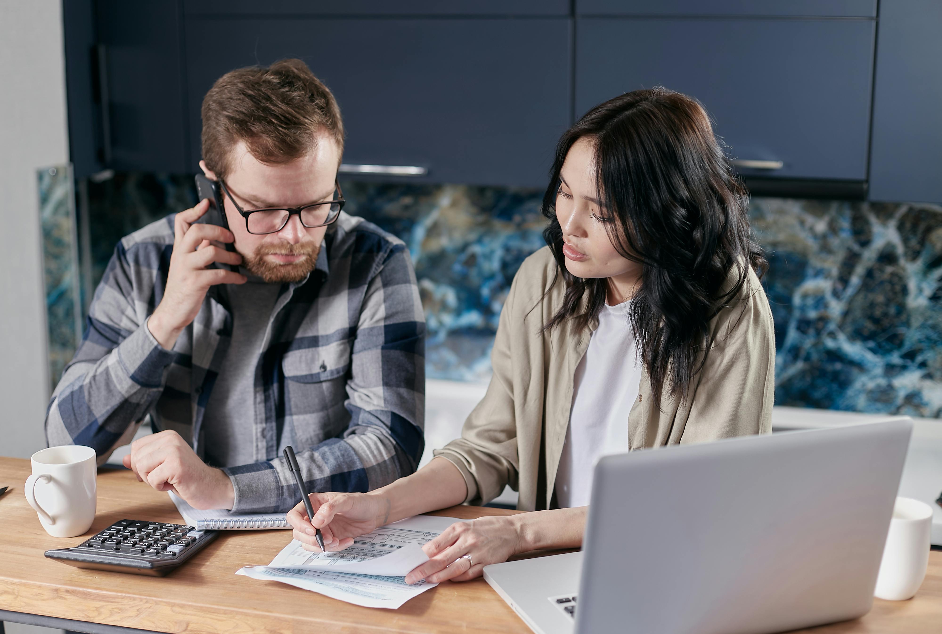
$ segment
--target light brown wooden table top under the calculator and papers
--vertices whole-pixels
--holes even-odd
[[[167,577],[73,568],[44,558],[42,552],[77,545],[123,518],[180,523],[181,517],[166,494],[139,483],[130,471],[101,471],[98,512],[89,533],[71,539],[50,537],[23,494],[29,473],[29,461],[0,458],[0,487],[11,486],[0,496],[0,621],[103,634],[128,628],[193,634],[530,631],[480,578],[442,583],[398,610],[374,610],[277,581],[234,574],[243,565],[271,561],[289,539],[283,530],[225,532]],[[454,507],[434,514],[473,518],[514,512]],[[877,599],[861,619],[804,631],[942,631],[942,552],[932,553],[929,574],[912,600]]]

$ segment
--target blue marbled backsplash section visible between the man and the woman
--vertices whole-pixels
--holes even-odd
[[[412,254],[432,379],[486,381],[513,275],[545,246],[542,192],[348,183],[349,213],[402,238]]]

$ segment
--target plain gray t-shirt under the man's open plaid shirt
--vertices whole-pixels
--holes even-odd
[[[206,462],[214,466],[265,458],[255,455],[255,372],[280,288],[251,275],[245,284],[226,285],[232,342],[203,414]]]

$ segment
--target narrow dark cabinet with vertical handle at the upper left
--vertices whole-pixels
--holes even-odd
[[[166,0],[63,5],[75,175],[187,170],[182,16]]]

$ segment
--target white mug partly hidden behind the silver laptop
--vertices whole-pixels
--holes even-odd
[[[897,497],[873,594],[890,601],[912,598],[929,566],[933,509],[911,497]]]

